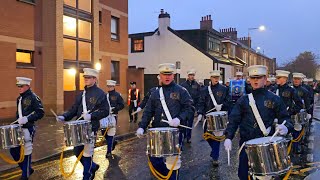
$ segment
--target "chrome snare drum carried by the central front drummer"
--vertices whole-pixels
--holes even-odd
[[[179,129],[151,128],[147,136],[147,154],[151,157],[179,155]]]

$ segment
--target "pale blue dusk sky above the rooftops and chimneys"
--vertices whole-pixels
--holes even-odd
[[[197,29],[210,14],[214,29],[237,28],[238,37],[265,25],[264,32],[250,31],[252,48],[280,64],[303,51],[320,55],[320,0],[129,0],[129,33],[155,30],[162,8],[176,30]]]

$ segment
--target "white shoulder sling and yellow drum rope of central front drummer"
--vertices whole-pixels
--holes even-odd
[[[170,114],[170,111],[168,109],[168,106],[166,104],[166,101],[165,101],[165,97],[164,97],[164,94],[163,94],[163,89],[162,87],[159,89],[159,94],[160,94],[160,101],[161,101],[161,105],[162,105],[162,108],[164,110],[164,113],[166,114],[167,118],[169,121],[172,120],[172,116]],[[181,150],[179,147],[177,147],[178,149],[178,153],[180,154],[181,153]],[[150,158],[148,156],[148,165],[149,165],[149,168],[150,168],[150,171],[152,172],[152,174],[157,178],[157,179],[160,179],[160,180],[167,180],[171,177],[172,173],[173,173],[173,169],[174,167],[176,166],[177,162],[179,160],[179,156],[176,157],[176,159],[174,160],[173,162],[173,165],[170,169],[170,171],[168,172],[168,174],[165,176],[165,175],[162,175],[160,172],[158,172],[152,165],[151,161],[150,161]]]

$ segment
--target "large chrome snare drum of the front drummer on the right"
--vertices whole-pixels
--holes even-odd
[[[287,155],[288,140],[276,136],[252,139],[246,142],[249,171],[256,176],[274,176],[289,171],[290,157]]]

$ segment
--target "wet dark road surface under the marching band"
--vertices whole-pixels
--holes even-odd
[[[320,101],[317,101],[314,116],[320,119]],[[313,140],[309,141],[308,148],[304,154],[292,157],[293,165],[307,167],[308,162],[320,161],[320,134],[315,133],[320,131],[320,122],[314,121],[312,123],[311,136]],[[192,143],[185,144],[182,152],[182,167],[180,169],[181,180],[236,180],[238,169],[238,141],[236,137],[233,140],[233,149],[231,151],[231,165],[227,164],[227,153],[224,150],[223,143],[220,146],[220,159],[219,167],[213,167],[211,164],[210,147],[208,143],[202,139],[202,123],[200,123],[193,130]],[[135,130],[135,129],[133,129]],[[61,141],[58,141],[61,143]],[[94,161],[100,165],[100,169],[96,173],[96,180],[102,179],[115,179],[115,180],[148,180],[152,179],[147,165],[146,156],[146,137],[129,138],[121,141],[116,149],[113,151],[113,158],[106,159],[106,146],[101,146],[95,149]],[[310,160],[310,157],[312,159]],[[76,161],[75,156],[67,153],[64,158],[63,167],[66,172],[70,172]],[[30,180],[62,180],[65,179],[61,176],[59,170],[59,158],[52,156],[36,163],[33,163],[35,173],[30,177]],[[320,168],[320,167],[319,167]],[[315,168],[317,169],[317,168]],[[67,179],[82,179],[82,165],[76,166],[75,173]],[[313,170],[315,171],[315,170]],[[311,171],[311,172],[313,172]],[[0,179],[18,179],[20,177],[19,168],[14,168],[0,172]],[[300,180],[304,179],[306,175],[291,175],[290,179]],[[319,178],[320,179],[320,178]]]

